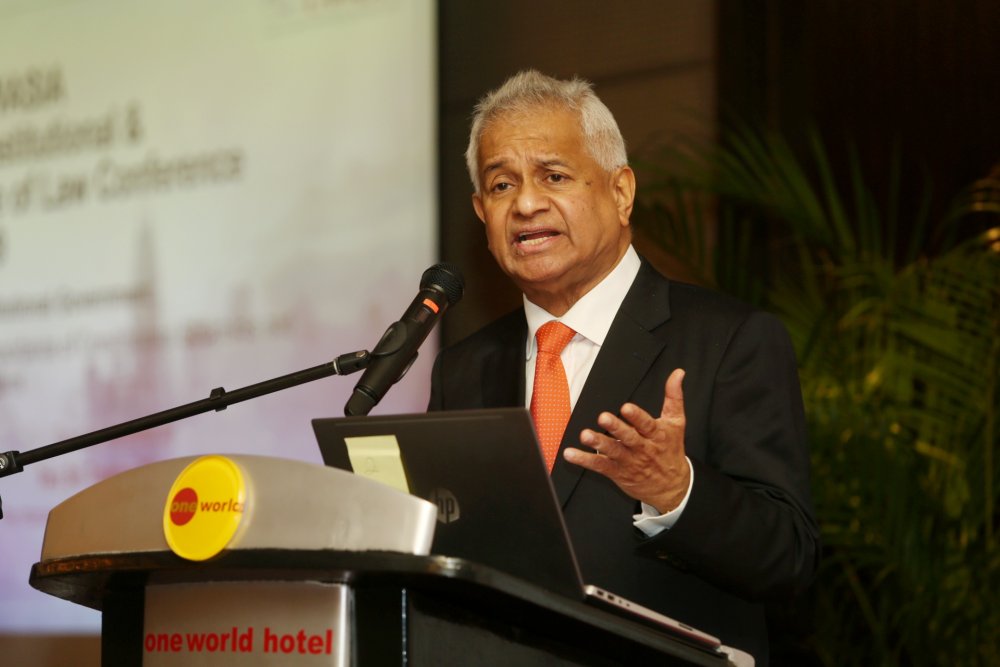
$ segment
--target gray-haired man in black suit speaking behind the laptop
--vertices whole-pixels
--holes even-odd
[[[544,451],[568,399],[550,466],[584,579],[766,664],[762,602],[807,586],[819,550],[787,334],[635,253],[635,177],[586,82],[512,77],[466,158],[524,308],[441,352],[431,409],[530,405]],[[550,353],[535,336],[553,320],[571,339]],[[559,380],[535,375],[546,354]]]

